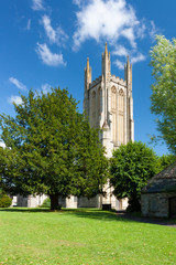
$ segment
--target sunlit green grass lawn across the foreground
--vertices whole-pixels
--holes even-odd
[[[176,264],[176,229],[100,210],[0,210],[0,264]]]

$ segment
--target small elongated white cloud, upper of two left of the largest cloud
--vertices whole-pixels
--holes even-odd
[[[63,31],[61,26],[54,30],[48,15],[45,14],[42,17],[42,24],[44,25],[46,35],[50,39],[51,43],[56,43],[57,45],[65,44],[68,35]]]

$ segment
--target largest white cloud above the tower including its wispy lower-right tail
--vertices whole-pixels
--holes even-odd
[[[127,56],[133,64],[145,60],[139,52],[138,41],[154,35],[154,22],[139,20],[135,10],[127,0],[73,0],[78,7],[77,29],[74,33],[74,50],[90,39],[112,46],[114,64],[124,68]],[[148,26],[150,24],[150,26]],[[122,44],[121,44],[122,43]],[[124,57],[124,60],[119,57]]]

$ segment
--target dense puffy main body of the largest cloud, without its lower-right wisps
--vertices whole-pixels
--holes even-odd
[[[76,17],[75,49],[79,49],[88,39],[116,43],[120,38],[124,38],[132,47],[136,46],[141,25],[134,9],[127,4],[125,0],[91,0],[87,6],[79,7]]]

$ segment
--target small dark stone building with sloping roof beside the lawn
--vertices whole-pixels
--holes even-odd
[[[176,162],[142,189],[141,211],[143,216],[176,218]]]

